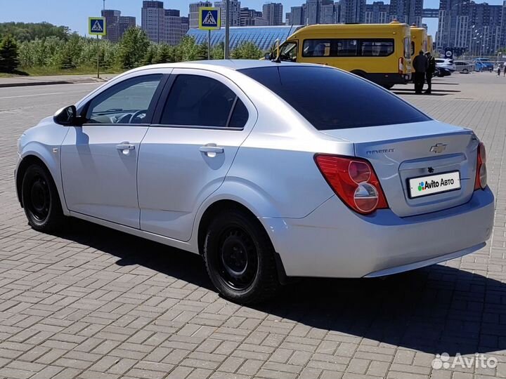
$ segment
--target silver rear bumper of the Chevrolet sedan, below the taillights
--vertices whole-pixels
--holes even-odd
[[[476,191],[467,204],[399,218],[389,209],[357,215],[337,197],[306,218],[263,218],[287,276],[379,277],[458,258],[485,246],[494,199]]]

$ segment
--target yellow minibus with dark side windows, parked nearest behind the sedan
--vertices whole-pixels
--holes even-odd
[[[411,79],[410,27],[389,24],[308,25],[266,58],[338,67],[385,88]]]

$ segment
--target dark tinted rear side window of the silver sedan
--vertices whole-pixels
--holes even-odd
[[[225,84],[200,75],[178,75],[165,103],[160,124],[242,128],[247,109]]]

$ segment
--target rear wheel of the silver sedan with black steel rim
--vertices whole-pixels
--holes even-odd
[[[233,302],[261,302],[275,295],[280,284],[274,254],[259,221],[240,209],[219,213],[207,228],[207,273],[223,298]]]

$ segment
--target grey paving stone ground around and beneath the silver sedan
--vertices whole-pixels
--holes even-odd
[[[0,378],[506,377],[506,78],[394,88],[486,143],[497,211],[485,248],[387,279],[304,279],[254,307],[221,299],[196,255],[77,220],[57,235],[27,227],[16,139],[95,87],[0,90]],[[498,366],[433,369],[443,352]]]

